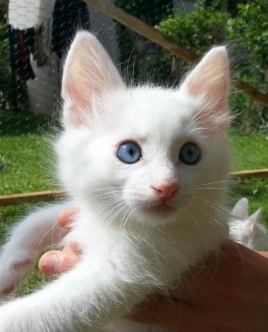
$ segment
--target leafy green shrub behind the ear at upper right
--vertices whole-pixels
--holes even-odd
[[[180,10],[162,20],[155,28],[184,48],[202,55],[211,46],[227,44],[233,59],[233,73],[268,94],[268,1],[254,0],[238,4],[238,16],[218,9],[219,1],[205,7],[198,1],[195,10]],[[164,51],[170,77],[180,77],[189,64]],[[161,75],[160,75],[161,76]],[[231,108],[242,128],[268,132],[268,110],[243,93],[231,94]]]

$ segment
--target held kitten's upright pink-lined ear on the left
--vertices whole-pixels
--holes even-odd
[[[77,33],[62,78],[61,96],[69,106],[64,109],[65,120],[83,124],[93,111],[95,98],[123,86],[117,68],[97,38],[86,31]]]

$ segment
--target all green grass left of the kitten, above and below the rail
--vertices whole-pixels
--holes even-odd
[[[57,189],[48,163],[48,136],[51,119],[41,116],[11,115],[0,112],[0,195]],[[6,230],[33,205],[0,208],[0,243]],[[48,278],[36,268],[19,289],[26,294]]]

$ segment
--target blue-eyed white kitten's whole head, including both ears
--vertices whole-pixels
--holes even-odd
[[[64,66],[57,143],[66,190],[105,223],[204,215],[229,172],[228,67],[226,49],[216,47],[178,89],[129,89],[97,39],[78,33]]]

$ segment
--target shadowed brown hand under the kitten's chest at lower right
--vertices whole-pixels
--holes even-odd
[[[266,332],[268,252],[226,241],[202,268],[173,289],[152,297],[128,318],[176,332]]]

